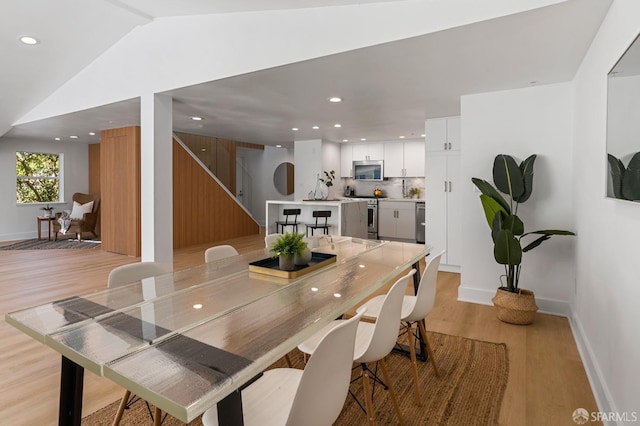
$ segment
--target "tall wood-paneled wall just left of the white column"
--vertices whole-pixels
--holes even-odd
[[[140,256],[140,127],[101,132],[100,190],[102,249]]]

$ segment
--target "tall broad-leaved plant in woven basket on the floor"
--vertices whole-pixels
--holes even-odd
[[[520,165],[510,155],[499,154],[493,162],[494,188],[489,182],[472,178],[471,181],[482,192],[480,201],[491,229],[493,255],[504,265],[506,279],[493,298],[498,319],[512,324],[530,324],[538,310],[532,291],[519,288],[522,254],[533,250],[552,235],[575,235],[571,231],[547,229],[525,232],[524,223],[517,216],[518,206],[531,196],[533,191],[533,164],[536,155]],[[509,196],[509,202],[498,192]],[[526,236],[538,235],[529,244],[521,246]]]

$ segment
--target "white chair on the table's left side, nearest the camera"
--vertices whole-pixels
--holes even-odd
[[[107,278],[107,287],[108,288],[116,288],[123,286],[125,284],[129,284],[135,281],[140,281],[143,278],[154,277],[156,275],[162,275],[169,272],[168,268],[157,262],[137,262],[130,263],[128,265],[118,266],[109,272],[109,277]],[[120,424],[120,420],[122,420],[122,414],[124,413],[125,408],[131,405],[135,396],[131,395],[130,390],[126,390],[124,395],[122,396],[122,400],[120,401],[120,406],[118,406],[118,411],[116,412],[116,416],[113,419],[113,426],[118,426]],[[148,406],[149,404],[147,404]],[[149,408],[149,412],[151,409]],[[156,408],[155,409],[155,421],[156,424],[160,424],[160,417],[162,416],[162,412]]]

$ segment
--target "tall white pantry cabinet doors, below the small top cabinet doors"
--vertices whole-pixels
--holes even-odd
[[[427,153],[425,168],[426,243],[446,249],[443,264],[459,266],[462,245],[460,153]]]

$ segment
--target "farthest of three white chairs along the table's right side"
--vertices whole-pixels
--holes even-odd
[[[433,304],[436,300],[436,281],[438,278],[438,268],[440,267],[440,259],[444,254],[444,250],[438,252],[435,255],[427,256],[426,266],[420,284],[418,285],[418,294],[415,296],[405,296],[402,302],[402,322],[403,333],[406,332],[409,337],[409,353],[411,355],[411,363],[413,365],[413,384],[415,387],[416,403],[422,405],[422,398],[420,396],[420,386],[418,384],[418,361],[416,360],[416,348],[414,334],[416,331],[413,329],[413,325],[416,324],[416,328],[420,330],[420,334],[424,339],[425,346],[427,348],[427,354],[433,370],[436,376],[439,376],[436,360],[433,357],[433,351],[431,345],[427,340],[427,332],[424,326],[424,319],[431,312]],[[376,318],[380,315],[382,309],[384,296],[376,296],[363,304],[363,307],[367,308],[367,317]]]

